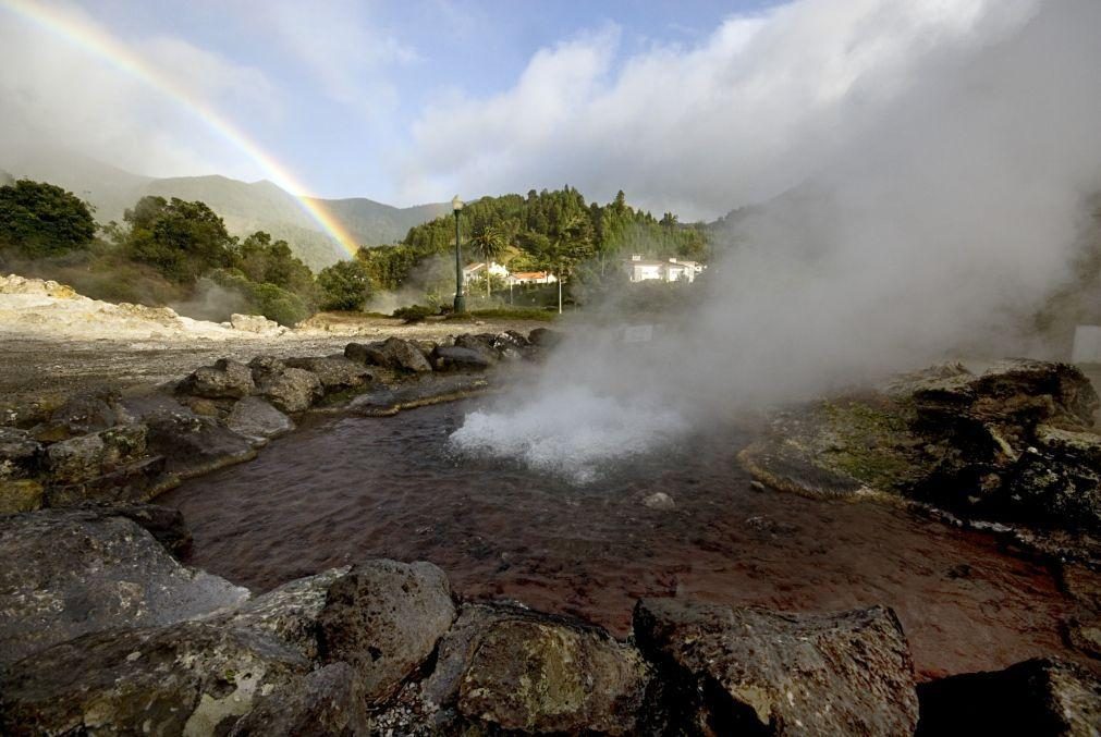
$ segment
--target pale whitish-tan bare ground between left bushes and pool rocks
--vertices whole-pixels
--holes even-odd
[[[536,320],[404,324],[392,318],[323,312],[301,328],[258,334],[164,309],[99,302],[66,294],[64,287],[21,288],[24,292],[0,288],[0,405],[100,388],[139,394],[221,358],[247,362],[257,355],[329,355],[342,353],[349,342],[392,336],[439,341],[465,332],[526,334],[548,326]]]

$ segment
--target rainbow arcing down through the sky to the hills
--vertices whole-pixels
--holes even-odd
[[[0,0],[0,8],[7,8],[20,18],[62,37],[67,43],[107,62],[120,72],[175,100],[201,120],[218,136],[259,165],[268,178],[295,197],[302,209],[321,227],[321,230],[339,243],[349,256],[356,255],[357,245],[351,234],[320,202],[298,194],[306,191],[306,187],[285,166],[250,141],[240,129],[226,120],[209,103],[198,99],[177,82],[157,72],[118,40],[61,8],[46,7],[31,0]]]

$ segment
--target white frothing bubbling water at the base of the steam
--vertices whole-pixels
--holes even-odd
[[[689,429],[680,414],[644,397],[612,397],[585,386],[523,402],[517,409],[478,410],[451,433],[460,453],[520,462],[577,484],[609,464],[642,455]]]

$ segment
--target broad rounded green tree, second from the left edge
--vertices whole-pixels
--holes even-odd
[[[123,220],[130,226],[121,246],[130,258],[157,270],[176,284],[194,284],[212,268],[231,265],[233,239],[203,202],[142,197]]]

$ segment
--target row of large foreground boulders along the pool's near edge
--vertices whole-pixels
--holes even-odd
[[[139,524],[178,540],[163,517],[0,520],[0,551],[32,561],[0,572],[0,733],[1088,735],[1101,714],[1097,679],[1054,660],[915,686],[882,607],[645,600],[622,641],[515,603],[457,602],[435,565],[390,560],[250,597]]]

